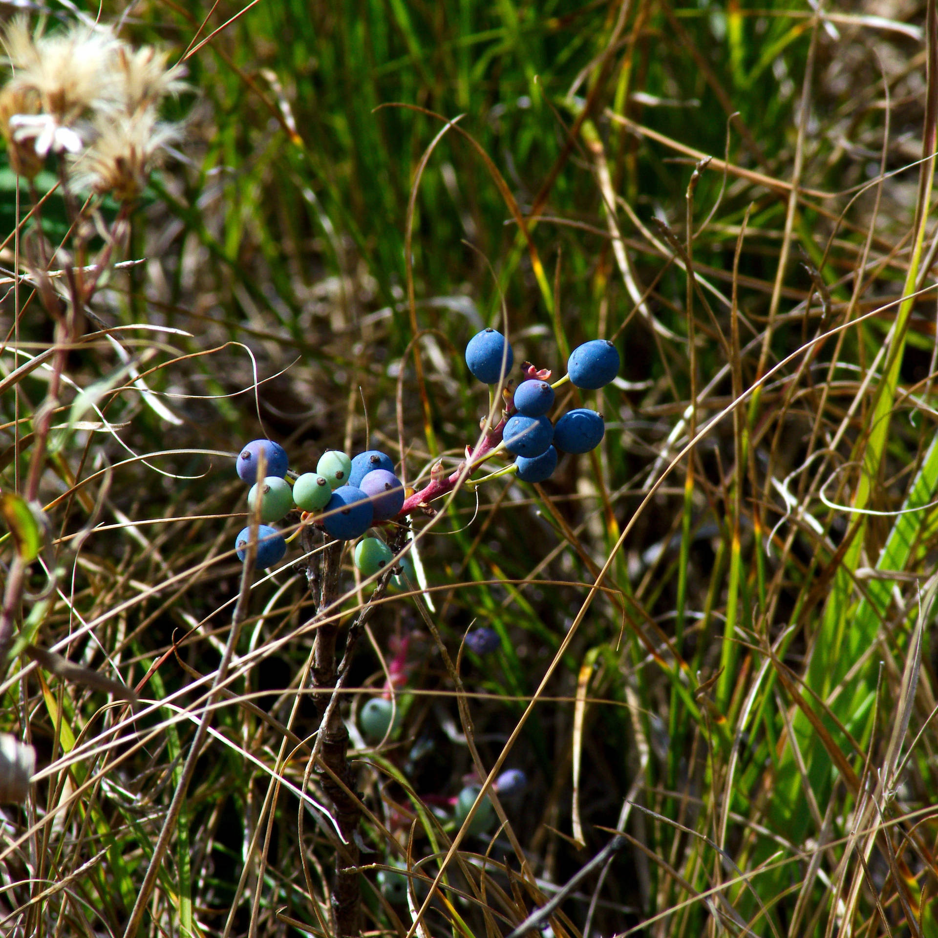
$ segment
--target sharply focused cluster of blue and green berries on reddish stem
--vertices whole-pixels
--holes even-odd
[[[514,365],[514,353],[505,337],[495,329],[483,329],[469,340],[465,351],[469,371],[488,385],[506,382]],[[287,540],[273,522],[291,511],[300,512],[303,523],[322,528],[336,540],[355,540],[372,525],[402,519],[416,510],[432,513],[432,500],[451,492],[460,482],[477,486],[494,477],[514,473],[523,482],[543,482],[557,466],[558,452],[585,453],[599,445],[605,433],[602,415],[578,407],[555,418],[548,416],[554,404],[554,388],[567,381],[584,390],[608,385],[619,371],[619,353],[611,341],[584,342],[567,361],[567,374],[550,384],[550,371],[538,371],[527,362],[524,378],[506,401],[502,419],[491,427],[476,447],[467,447],[466,461],[446,477],[441,464],[433,467],[430,482],[408,495],[394,474],[394,462],[386,453],[369,449],[349,458],[329,449],[316,464],[316,471],[296,476],[289,472],[286,451],[270,440],[254,440],[237,457],[237,474],[250,484],[248,507],[259,512],[256,566],[264,569],[280,562]],[[514,461],[489,476],[472,474],[493,456],[507,452]],[[264,477],[258,470],[263,461]],[[250,527],[237,536],[235,548],[244,560]],[[292,539],[292,538],[291,538]],[[364,537],[354,552],[356,567],[370,577],[386,567],[393,553],[379,537]],[[471,643],[470,643],[471,644]]]

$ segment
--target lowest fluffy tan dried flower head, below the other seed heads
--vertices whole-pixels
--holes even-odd
[[[93,144],[73,161],[74,184],[119,202],[134,202],[159,163],[163,148],[179,139],[177,125],[162,123],[153,108],[131,114],[99,115]]]

